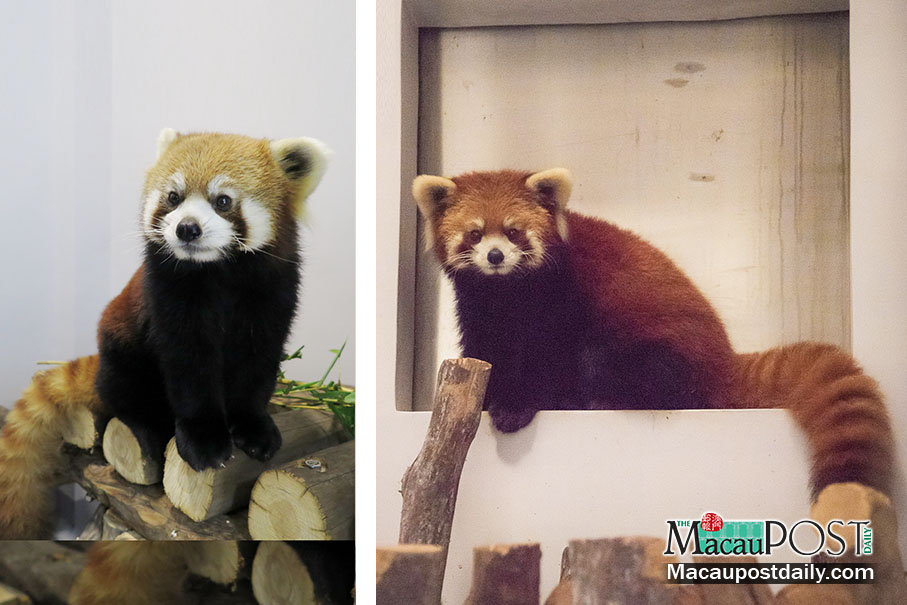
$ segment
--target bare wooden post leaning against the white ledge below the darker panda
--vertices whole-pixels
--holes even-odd
[[[460,474],[479,428],[490,372],[491,365],[478,359],[447,359],[441,363],[428,434],[416,460],[403,475],[400,543],[441,546],[439,588],[444,579]],[[440,602],[440,592],[435,597]]]

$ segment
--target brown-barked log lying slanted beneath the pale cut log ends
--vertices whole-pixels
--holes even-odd
[[[173,506],[161,485],[129,483],[109,464],[88,464],[79,484],[148,540],[249,539],[245,511],[196,523]]]

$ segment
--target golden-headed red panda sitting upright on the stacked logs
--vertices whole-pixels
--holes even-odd
[[[104,310],[98,355],[35,376],[0,433],[0,538],[44,534],[54,455],[78,406],[197,470],[269,459],[265,411],[296,313],[296,218],[324,172],[314,139],[165,129],[142,193],[144,262]]]

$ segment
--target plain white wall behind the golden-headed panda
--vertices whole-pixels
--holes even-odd
[[[139,194],[157,133],[312,136],[334,151],[309,199],[289,374],[347,340],[354,381],[354,3],[7,3],[0,22],[0,405],[34,362],[93,353],[141,262]]]

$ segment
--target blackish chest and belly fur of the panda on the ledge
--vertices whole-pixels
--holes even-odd
[[[486,408],[507,417],[517,410],[705,407],[683,355],[663,342],[619,335],[583,293],[569,254],[564,246],[552,253],[555,262],[513,276],[451,276],[463,355],[492,364]],[[506,420],[496,424],[507,430]]]

